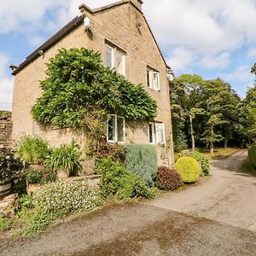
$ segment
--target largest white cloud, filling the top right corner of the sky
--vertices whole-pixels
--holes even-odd
[[[183,45],[201,55],[215,55],[256,40],[253,0],[149,0],[144,10],[165,48]]]

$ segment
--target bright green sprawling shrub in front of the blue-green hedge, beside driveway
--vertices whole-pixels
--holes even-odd
[[[154,191],[148,188],[143,178],[129,172],[119,162],[102,160],[98,169],[103,175],[101,191],[104,197],[115,196],[119,200],[154,197]]]

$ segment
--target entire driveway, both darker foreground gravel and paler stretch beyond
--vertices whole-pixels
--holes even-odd
[[[215,160],[199,186],[77,215],[0,255],[255,255],[256,177],[238,172],[245,157]]]

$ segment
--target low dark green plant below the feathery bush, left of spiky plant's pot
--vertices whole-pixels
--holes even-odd
[[[27,184],[47,184],[55,182],[55,172],[44,168],[42,170],[34,170],[32,167],[28,167],[25,171],[26,183]]]

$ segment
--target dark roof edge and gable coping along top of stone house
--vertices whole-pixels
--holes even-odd
[[[80,11],[83,13],[83,9],[88,11],[89,13],[91,14],[96,14],[96,13],[99,13],[99,12],[102,12],[102,11],[105,11],[107,9],[112,9],[116,6],[119,6],[119,5],[122,5],[122,4],[125,4],[125,3],[131,3],[131,5],[137,9],[137,11],[139,11],[142,15],[143,15],[143,12],[142,10],[138,9],[137,6],[130,2],[129,0],[124,0],[124,1],[120,1],[120,2],[117,2],[117,3],[111,3],[111,4],[108,4],[108,5],[105,5],[101,8],[97,8],[97,9],[90,9],[90,7],[88,7],[86,4],[81,4],[79,5],[79,9]],[[49,38],[44,44],[42,44],[40,47],[38,47],[38,49],[35,49],[31,55],[28,55],[26,57],[26,60],[21,62],[21,64],[19,65],[19,67],[17,67],[12,75],[16,75],[17,73],[19,73],[24,67],[26,67],[28,64],[30,64],[32,61],[36,60],[40,55],[42,55],[42,52],[44,53],[47,49],[49,49],[51,46],[53,46],[54,44],[56,44],[58,41],[61,40],[61,38],[64,38],[69,32],[72,32],[73,29],[75,29],[76,27],[80,26],[83,21],[84,21],[84,16],[85,14],[83,15],[80,15],[79,17],[75,17],[73,20],[71,20],[70,22],[67,23],[66,26],[63,26],[61,28],[61,30],[59,30],[58,32],[56,32],[51,38]],[[154,34],[150,28],[150,26],[148,25],[148,21],[147,19],[145,18],[145,16],[143,15],[143,19],[146,21],[146,24],[148,26],[148,30],[149,32],[151,33],[152,35],[152,38],[154,39],[154,43],[156,44],[159,52],[160,52],[160,55],[163,59],[163,61],[165,62],[166,64],[166,67],[171,69],[171,67],[169,67],[166,63],[166,60],[164,58],[164,55],[162,54],[161,50],[160,50],[160,47],[159,45],[157,44],[156,42],[156,39],[154,38]]]

